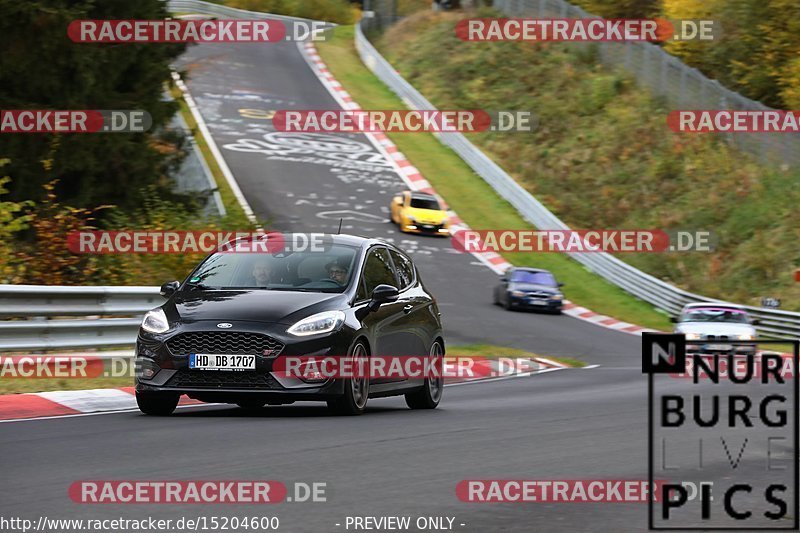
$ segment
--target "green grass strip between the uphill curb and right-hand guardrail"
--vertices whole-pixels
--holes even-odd
[[[336,79],[365,109],[405,109],[405,105],[361,62],[353,45],[353,27],[337,27],[330,40],[318,43],[322,59]],[[390,134],[392,142],[411,160],[447,203],[476,229],[530,229],[516,210],[477,176],[461,158],[433,135]],[[622,289],[595,276],[562,254],[505,253],[518,266],[553,271],[566,284],[573,302],[597,313],[644,327],[669,330],[667,316]]]

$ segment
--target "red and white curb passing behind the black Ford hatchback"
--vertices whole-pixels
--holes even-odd
[[[447,379],[446,384],[526,377],[561,368],[567,367],[538,357],[527,360],[509,359],[502,365],[496,360],[479,360],[474,365],[476,377]],[[181,396],[178,403],[179,407],[198,405],[211,404],[192,400],[186,396]],[[133,387],[0,395],[0,422],[138,411],[138,409]]]

